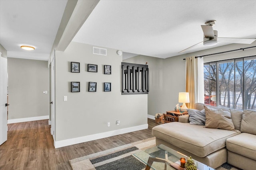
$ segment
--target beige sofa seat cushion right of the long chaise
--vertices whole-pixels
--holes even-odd
[[[256,135],[250,133],[241,133],[230,137],[226,141],[227,149],[256,160]]]

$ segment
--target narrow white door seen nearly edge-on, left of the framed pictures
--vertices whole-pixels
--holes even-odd
[[[53,140],[55,141],[55,52],[51,62],[51,72],[52,72],[52,80],[51,80],[51,95],[52,95],[52,107],[51,107],[51,134]]]

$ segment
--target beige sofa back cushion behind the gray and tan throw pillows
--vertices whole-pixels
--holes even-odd
[[[206,104],[202,104],[202,103],[196,103],[194,105],[194,109],[202,110],[202,109],[204,109],[204,106],[214,108],[214,109],[222,109],[220,107],[214,107],[214,106],[210,106],[210,105],[206,105]],[[230,112],[231,112],[231,119],[232,119],[235,129],[240,131],[243,112],[240,110],[235,110],[235,109],[230,109]]]

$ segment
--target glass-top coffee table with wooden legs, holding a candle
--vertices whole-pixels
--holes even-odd
[[[138,159],[142,160],[146,164],[145,170],[185,170],[180,166],[180,158],[188,160],[189,156],[186,156],[176,150],[170,149],[165,145],[158,145],[156,147],[146,149],[137,153],[134,153]],[[194,160],[198,170],[214,170],[201,162]]]

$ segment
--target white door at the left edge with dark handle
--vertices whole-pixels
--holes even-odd
[[[7,59],[0,53],[0,145],[7,140]]]

